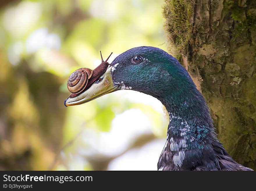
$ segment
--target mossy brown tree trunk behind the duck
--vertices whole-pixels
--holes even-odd
[[[169,51],[211,110],[218,138],[256,170],[256,1],[167,0]]]

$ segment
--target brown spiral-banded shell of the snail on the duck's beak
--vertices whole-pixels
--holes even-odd
[[[86,88],[88,80],[93,74],[89,68],[79,68],[70,74],[67,81],[67,89],[74,94],[78,94]]]

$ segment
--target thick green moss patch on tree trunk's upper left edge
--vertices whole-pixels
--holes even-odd
[[[163,17],[166,19],[164,28],[168,42],[169,51],[172,48],[178,50],[180,54],[186,54],[193,25],[190,20],[193,13],[191,1],[170,0],[165,1],[163,7]]]

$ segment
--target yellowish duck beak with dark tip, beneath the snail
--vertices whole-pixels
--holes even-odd
[[[109,67],[106,72],[100,77],[103,78],[99,83],[93,83],[90,88],[85,90],[84,92],[78,94],[76,97],[68,97],[64,105],[67,106],[75,106],[86,103],[98,97],[101,97],[105,94],[114,92],[118,89],[118,85],[113,83],[111,67]]]

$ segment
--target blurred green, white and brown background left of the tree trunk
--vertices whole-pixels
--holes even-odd
[[[75,69],[166,50],[162,0],[0,1],[0,170],[157,170],[168,115],[120,90],[65,107]],[[110,63],[109,62],[109,63]]]

